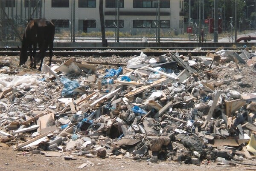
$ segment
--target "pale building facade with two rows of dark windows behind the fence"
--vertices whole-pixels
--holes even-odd
[[[183,0],[159,1],[103,0],[105,30],[115,31],[118,25],[123,33],[154,33],[160,20],[161,31],[182,33]],[[99,0],[1,0],[1,9],[3,20],[6,16],[15,22],[26,21],[30,16],[45,17],[52,20],[57,32],[71,28],[75,32],[91,32],[101,28]]]

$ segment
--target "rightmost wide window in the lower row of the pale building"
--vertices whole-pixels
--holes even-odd
[[[133,20],[133,28],[157,28],[157,20]],[[170,28],[170,21],[160,20],[160,28]]]

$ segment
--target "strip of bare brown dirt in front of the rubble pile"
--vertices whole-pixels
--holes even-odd
[[[113,158],[87,158],[73,156],[76,160],[64,160],[64,157],[45,157],[41,154],[31,154],[30,152],[14,151],[12,148],[0,148],[0,170],[2,171],[72,171],[72,170],[90,170],[90,171],[244,171],[256,170],[256,166],[250,165],[217,165],[209,163],[208,165],[186,165],[182,162],[162,161],[151,163],[147,161],[138,161],[132,159],[113,159]],[[83,163],[88,164],[82,169],[78,167]],[[247,160],[246,163],[256,164],[256,160]]]

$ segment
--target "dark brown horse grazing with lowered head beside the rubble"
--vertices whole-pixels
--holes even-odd
[[[49,46],[49,66],[52,63],[52,49],[55,34],[54,24],[44,18],[30,20],[23,34],[22,45],[20,49],[20,66],[25,64],[28,59],[27,50],[29,48],[30,67],[36,68],[37,63],[41,60],[40,68],[42,68],[45,52]],[[36,54],[36,48],[39,53]],[[32,52],[33,45],[33,52]]]

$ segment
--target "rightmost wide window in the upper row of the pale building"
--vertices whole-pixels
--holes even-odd
[[[158,0],[134,0],[134,8],[157,8]],[[160,8],[170,8],[170,0],[161,0]]]

